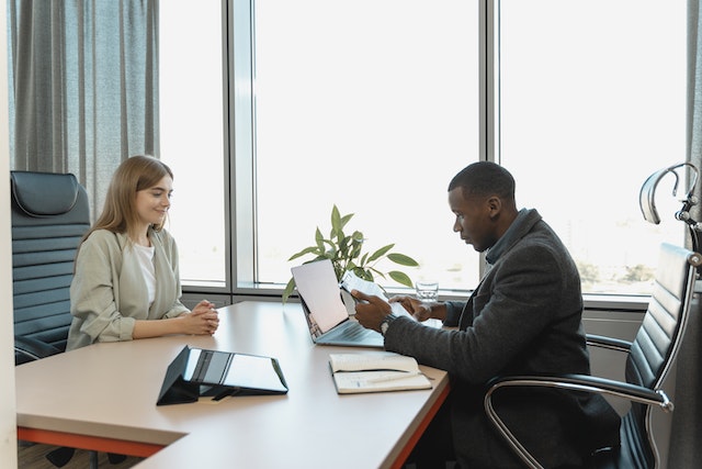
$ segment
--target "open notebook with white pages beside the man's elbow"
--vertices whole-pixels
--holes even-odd
[[[392,351],[329,354],[339,394],[431,389],[412,357]]]

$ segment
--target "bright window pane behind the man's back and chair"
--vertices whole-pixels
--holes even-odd
[[[638,190],[686,159],[686,2],[502,0],[499,45],[500,160],[518,203],[561,235],[585,292],[648,293],[658,244],[683,242],[675,178],[657,191],[660,225]]]

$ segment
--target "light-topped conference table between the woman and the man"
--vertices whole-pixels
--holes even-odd
[[[219,309],[214,336],[100,343],[20,365],[18,438],[145,457],[139,468],[396,468],[449,393],[445,371],[421,366],[431,390],[338,394],[331,353],[314,345],[297,303]],[[184,346],[276,358],[282,395],[156,405]]]

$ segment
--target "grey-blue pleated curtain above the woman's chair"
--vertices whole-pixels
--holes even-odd
[[[91,211],[157,156],[158,0],[9,0],[11,168],[73,172]]]

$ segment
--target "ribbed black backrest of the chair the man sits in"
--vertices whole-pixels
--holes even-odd
[[[698,253],[665,243],[660,246],[654,291],[626,359],[627,382],[652,390],[663,384],[680,348],[700,264]],[[638,455],[630,455],[632,467],[657,465],[650,412],[649,405],[632,403],[622,420],[622,449],[641,448]]]

